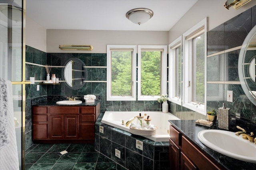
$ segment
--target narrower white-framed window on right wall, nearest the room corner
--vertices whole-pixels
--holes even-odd
[[[171,102],[181,105],[182,98],[182,56],[181,40],[178,37],[169,45],[169,97]]]

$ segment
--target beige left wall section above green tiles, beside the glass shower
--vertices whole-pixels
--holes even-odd
[[[27,16],[26,45],[46,52],[46,29]]]

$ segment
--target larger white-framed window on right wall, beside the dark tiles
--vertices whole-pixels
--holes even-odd
[[[206,115],[207,18],[183,34],[182,105]]]

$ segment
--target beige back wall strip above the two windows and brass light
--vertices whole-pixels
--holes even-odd
[[[47,29],[47,53],[107,53],[106,45],[168,45],[168,31]],[[92,51],[60,50],[59,45],[92,45]]]

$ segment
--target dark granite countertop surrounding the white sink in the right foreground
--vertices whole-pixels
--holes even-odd
[[[208,154],[210,157],[212,157],[216,162],[218,162],[220,165],[223,166],[224,169],[227,170],[251,170],[256,169],[256,164],[245,162],[242,160],[238,160],[235,158],[231,158],[229,156],[220,154],[208,147],[206,147],[204,144],[202,144],[198,140],[198,132],[205,130],[205,129],[218,129],[218,124],[213,125],[212,127],[205,127],[202,125],[196,125],[196,120],[169,120],[169,122],[174,125],[177,129],[182,132],[182,134],[190,139],[192,143],[194,143],[196,146],[204,150],[206,154]],[[223,129],[222,129],[223,130]],[[227,142],[232,142],[228,141]],[[242,147],[242,146],[238,146]]]

